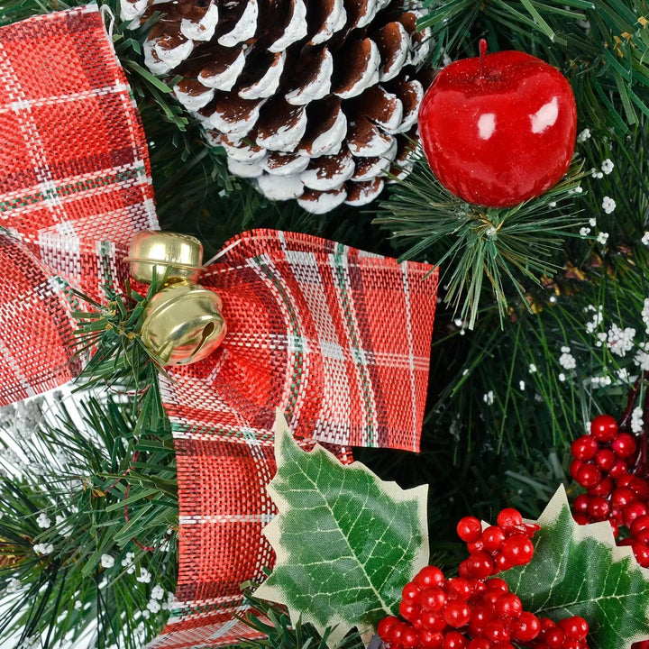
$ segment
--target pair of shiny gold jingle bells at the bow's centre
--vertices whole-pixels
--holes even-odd
[[[133,236],[126,260],[133,279],[164,281],[147,307],[142,343],[164,365],[188,365],[214,352],[227,328],[221,298],[196,284],[203,265],[201,242],[187,234],[145,230]]]

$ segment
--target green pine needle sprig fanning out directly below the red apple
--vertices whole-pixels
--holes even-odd
[[[407,248],[400,259],[425,259],[440,267],[446,303],[472,329],[484,305],[484,284],[503,317],[512,293],[526,303],[524,281],[540,283],[559,268],[557,253],[583,224],[575,206],[581,167],[574,162],[542,197],[511,209],[488,209],[453,197],[419,151],[412,173],[379,204],[374,223]]]

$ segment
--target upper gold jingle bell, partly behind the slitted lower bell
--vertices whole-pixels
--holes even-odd
[[[151,284],[153,277],[165,285],[177,281],[196,283],[203,265],[203,246],[189,234],[142,230],[133,235],[128,257],[133,279]]]

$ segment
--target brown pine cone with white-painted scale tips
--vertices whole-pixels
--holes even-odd
[[[230,171],[273,200],[322,214],[377,197],[405,175],[428,50],[417,6],[402,0],[122,0],[136,24],[163,18],[144,44],[156,74],[182,77]],[[408,0],[416,3],[419,0]]]

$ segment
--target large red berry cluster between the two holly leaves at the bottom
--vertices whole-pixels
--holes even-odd
[[[403,619],[388,616],[379,622],[379,637],[388,649],[515,649],[512,643],[588,649],[583,640],[588,625],[581,617],[571,618],[572,626],[586,628],[579,638],[563,630],[558,644],[560,634],[538,640],[553,623],[524,611],[507,583],[492,576],[529,562],[534,554],[530,538],[540,529],[524,523],[516,509],[503,509],[497,522],[483,530],[478,518],[462,518],[457,531],[470,556],[460,564],[460,576],[447,580],[439,568],[426,566],[406,584],[399,604]]]

